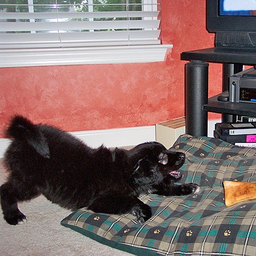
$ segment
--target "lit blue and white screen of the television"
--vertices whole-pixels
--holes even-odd
[[[221,16],[255,16],[256,0],[220,0]]]

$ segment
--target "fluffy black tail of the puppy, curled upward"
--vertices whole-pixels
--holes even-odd
[[[6,133],[17,141],[27,142],[44,158],[50,158],[47,139],[40,131],[39,126],[34,125],[22,115],[15,115]]]

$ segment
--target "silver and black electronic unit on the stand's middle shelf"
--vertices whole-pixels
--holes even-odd
[[[229,101],[256,103],[255,67],[229,77]]]

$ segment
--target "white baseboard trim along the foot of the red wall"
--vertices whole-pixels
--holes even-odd
[[[220,120],[208,121],[208,137],[213,137],[214,125]],[[75,135],[81,141],[90,147],[100,147],[104,144],[106,147],[134,146],[143,142],[155,141],[155,126],[140,126],[109,130],[96,131],[76,131]],[[0,158],[3,157],[10,139],[0,139]]]

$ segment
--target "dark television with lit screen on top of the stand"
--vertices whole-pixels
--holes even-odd
[[[207,29],[215,51],[256,52],[256,1],[207,0]]]

